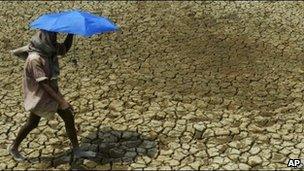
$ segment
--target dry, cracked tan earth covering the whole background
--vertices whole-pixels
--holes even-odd
[[[303,2],[1,2],[1,169],[283,169],[304,159]],[[77,38],[60,62],[81,146],[69,164],[64,124],[24,124],[23,61],[39,15],[81,8],[121,32]],[[61,37],[62,40],[62,37]],[[73,53],[74,52],[74,53]]]

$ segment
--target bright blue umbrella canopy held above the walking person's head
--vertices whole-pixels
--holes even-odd
[[[86,11],[63,11],[40,16],[30,24],[31,28],[52,32],[92,36],[116,31],[118,27],[109,19]]]

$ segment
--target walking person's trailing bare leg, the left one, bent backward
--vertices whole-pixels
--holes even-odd
[[[30,113],[27,122],[21,127],[15,141],[13,141],[13,144],[9,147],[9,153],[16,161],[22,161],[25,159],[18,150],[19,145],[26,138],[26,136],[38,126],[40,118],[40,116]]]

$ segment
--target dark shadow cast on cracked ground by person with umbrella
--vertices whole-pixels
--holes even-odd
[[[134,131],[118,131],[111,128],[93,132],[83,138],[80,144],[83,150],[96,153],[93,158],[86,158],[99,164],[132,163],[138,156],[153,158],[157,151],[157,142]],[[50,162],[52,167],[70,163],[71,169],[86,169],[83,159],[73,160],[71,151],[64,151],[55,156],[29,158],[28,161]]]

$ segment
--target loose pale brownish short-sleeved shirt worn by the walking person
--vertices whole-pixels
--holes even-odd
[[[57,55],[65,54],[63,44],[58,44]],[[46,58],[37,52],[29,52],[24,66],[23,92],[26,111],[51,119],[58,109],[58,103],[39,85],[40,81],[49,80],[55,91],[58,89],[58,57]]]

